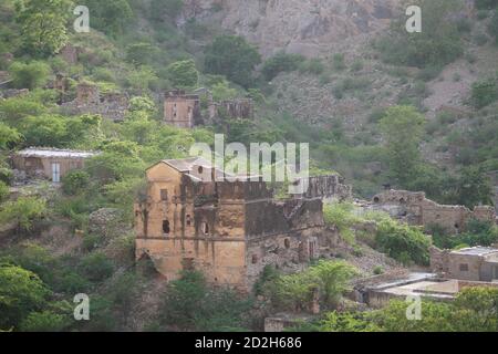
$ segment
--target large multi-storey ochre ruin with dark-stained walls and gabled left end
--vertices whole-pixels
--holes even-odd
[[[248,290],[267,264],[298,268],[320,256],[321,196],[277,201],[261,180],[215,177],[222,173],[201,158],[147,169],[146,197],[135,205],[137,259],[149,257],[167,280],[199,270],[211,283]],[[331,180],[321,183],[325,192],[347,189]]]

